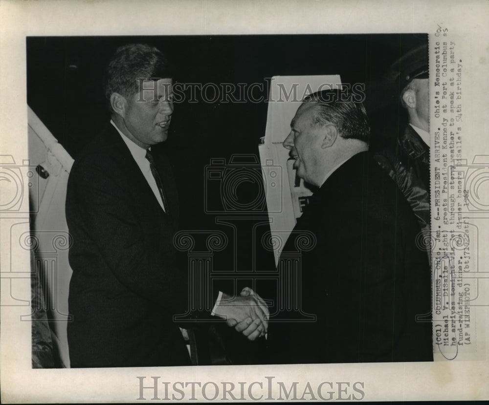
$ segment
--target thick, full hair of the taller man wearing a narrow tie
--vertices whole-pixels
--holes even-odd
[[[158,80],[172,77],[166,57],[155,47],[131,43],[115,51],[105,72],[105,97],[112,93],[128,98],[139,91],[136,79]]]

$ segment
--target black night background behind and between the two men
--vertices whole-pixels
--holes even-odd
[[[399,86],[388,86],[383,78],[402,54],[427,43],[427,35],[29,37],[26,41],[27,103],[75,159],[110,119],[103,73],[115,49],[127,43],[158,47],[171,60],[174,82],[179,83],[265,85],[267,79],[276,75],[328,74],[339,74],[342,83],[364,83],[371,143],[376,148],[386,138],[397,136],[398,128],[406,123],[399,105]],[[266,102],[200,100],[176,104],[169,139],[159,148],[165,150],[174,166],[181,229],[218,229],[233,240],[233,230],[215,222],[216,216],[222,215],[204,212],[205,166],[211,158],[228,161],[234,153],[258,158],[258,143],[265,136],[266,121]],[[284,133],[284,139],[286,136]],[[238,198],[246,204],[263,192],[260,187],[263,185],[243,182],[237,190]],[[207,198],[219,205],[219,188],[208,190]],[[232,270],[234,255],[239,270],[249,271],[253,265],[257,265],[258,271],[274,268],[272,254],[253,244],[250,234],[251,226],[260,217],[267,218],[267,213],[259,210],[253,217],[240,221],[235,230],[238,251],[226,249],[214,256],[214,271]],[[267,229],[261,227],[260,232]],[[243,341],[235,343],[234,362],[258,362],[241,349]]]

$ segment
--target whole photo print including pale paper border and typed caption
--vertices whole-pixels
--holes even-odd
[[[188,27],[193,3],[174,15]],[[239,15],[205,3],[220,26]],[[22,333],[5,359],[86,389],[7,403],[421,399],[382,381],[430,398],[454,364],[487,374],[489,152],[464,136],[487,123],[463,36],[266,21],[18,36],[1,309]]]

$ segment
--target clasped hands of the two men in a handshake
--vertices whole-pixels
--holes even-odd
[[[249,287],[244,287],[236,297],[223,293],[214,314],[225,319],[228,326],[243,333],[250,341],[267,334],[270,316],[267,304]]]

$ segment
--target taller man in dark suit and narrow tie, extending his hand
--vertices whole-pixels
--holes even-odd
[[[71,169],[71,367],[190,364],[173,319],[189,309],[188,274],[173,246],[177,192],[168,159],[151,150],[168,136],[171,78],[156,48],[119,48],[107,69],[111,123]],[[248,339],[265,333],[267,309],[256,295],[208,296],[208,312],[244,323]]]

